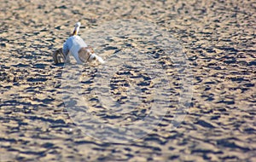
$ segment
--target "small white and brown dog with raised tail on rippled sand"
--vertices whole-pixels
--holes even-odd
[[[78,36],[80,26],[81,23],[77,22],[73,34],[71,37],[67,38],[66,42],[63,44],[63,48],[57,49],[54,52],[53,59],[55,64],[61,63],[61,59],[63,59],[64,62],[70,62],[69,52],[79,64],[91,61],[99,61],[102,64],[105,63],[102,57],[96,55],[94,50],[84,43],[83,38]]]

